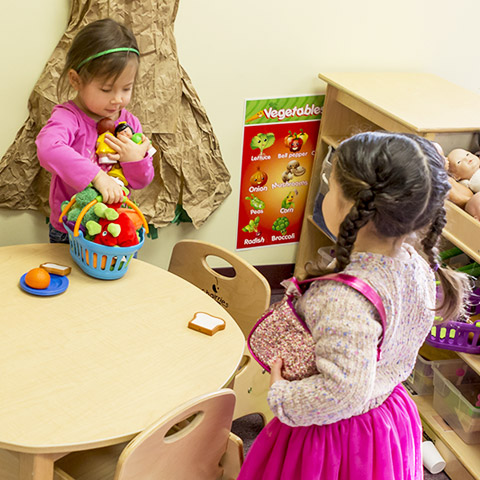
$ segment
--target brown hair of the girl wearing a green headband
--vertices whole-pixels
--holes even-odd
[[[94,58],[82,65],[82,62],[92,55],[113,48],[134,48],[138,50],[133,33],[124,25],[104,18],[82,28],[70,46],[65,60],[65,66],[57,86],[57,96],[60,99],[70,89],[68,72],[75,70],[80,78],[88,83],[93,78],[116,78],[120,75],[131,58],[139,59],[134,52],[114,52]],[[80,65],[80,67],[79,67]]]

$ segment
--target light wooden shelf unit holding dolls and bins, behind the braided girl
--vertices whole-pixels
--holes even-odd
[[[446,153],[470,150],[480,131],[480,95],[435,75],[409,72],[321,73],[326,98],[295,275],[306,275],[305,263],[331,240],[313,220],[322,162],[328,148],[369,130],[413,133],[438,142]],[[480,223],[447,202],[444,237],[480,262]],[[480,358],[460,356],[480,374]],[[480,445],[466,445],[433,410],[431,397],[415,397],[425,431],[446,457],[452,480],[480,480]],[[440,419],[441,420],[441,419]]]

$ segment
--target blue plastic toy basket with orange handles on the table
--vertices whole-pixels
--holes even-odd
[[[140,229],[140,241],[137,245],[132,245],[131,247],[109,247],[91,242],[84,237],[83,232],[80,230],[80,223],[85,213],[90,207],[95,205],[98,200],[93,200],[83,208],[75,222],[73,231],[64,223],[70,241],[70,254],[75,263],[91,277],[102,280],[116,280],[117,278],[123,277],[128,270],[131,259],[143,246],[145,233],[148,233],[148,224],[145,217],[138,207],[128,198],[125,197],[123,201],[132,207],[142,219],[143,228]],[[72,202],[62,211],[60,217],[61,222],[63,222],[63,217],[71,205]]]

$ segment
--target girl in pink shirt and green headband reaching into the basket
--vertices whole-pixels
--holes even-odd
[[[58,85],[59,95],[73,89],[73,100],[57,105],[40,131],[36,144],[40,165],[51,172],[50,241],[68,243],[59,222],[61,204],[90,183],[105,203],[120,202],[122,186],[108,175],[112,165],[100,165],[95,153],[97,122],[110,118],[127,122],[141,132],[138,119],[125,107],[129,104],[139,66],[140,52],[134,35],[111,19],[93,22],[82,29],[67,53]],[[153,179],[150,141],[139,144],[125,136],[107,135],[105,143],[116,153],[129,188],[141,189]]]

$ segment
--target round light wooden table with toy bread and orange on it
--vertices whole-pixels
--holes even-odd
[[[72,267],[64,293],[20,288],[44,262]],[[51,480],[56,459],[131,439],[226,385],[241,360],[245,340],[228,313],[156,266],[133,260],[123,278],[97,280],[67,245],[35,244],[0,248],[0,268],[2,480]],[[225,330],[187,328],[197,311],[223,318]]]

